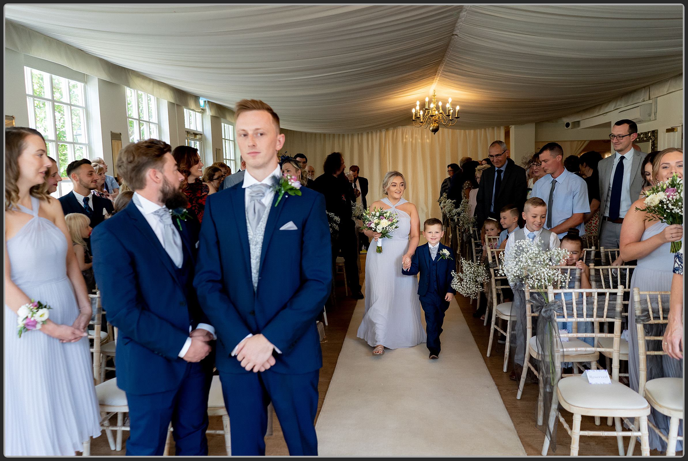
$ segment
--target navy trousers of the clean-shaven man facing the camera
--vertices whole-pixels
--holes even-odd
[[[268,405],[272,402],[289,454],[318,455],[314,420],[318,409],[320,370],[281,374],[219,373],[224,405],[232,425],[233,456],[264,456]]]

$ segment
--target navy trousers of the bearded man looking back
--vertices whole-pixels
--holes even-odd
[[[155,394],[127,392],[127,456],[162,456],[172,422],[176,455],[208,455],[208,393],[213,374],[200,363],[187,363],[178,389]]]

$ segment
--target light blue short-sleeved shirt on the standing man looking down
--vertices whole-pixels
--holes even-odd
[[[552,197],[552,227],[559,226],[574,213],[590,213],[588,186],[583,178],[564,169],[563,173],[555,181],[557,181],[557,186],[555,187],[554,197]],[[545,203],[548,203],[551,188],[552,175],[545,175],[537,180],[533,186],[533,192],[530,193],[530,197],[539,197]],[[583,226],[582,222],[577,228],[581,231],[580,235],[585,233],[585,226]],[[566,233],[567,230],[564,230],[558,234],[558,237],[561,239]]]

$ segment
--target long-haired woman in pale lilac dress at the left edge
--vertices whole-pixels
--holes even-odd
[[[65,456],[100,435],[89,342],[92,308],[62,206],[47,195],[51,162],[34,129],[6,129],[5,447],[8,456]],[[50,305],[40,330],[17,335],[17,311]]]

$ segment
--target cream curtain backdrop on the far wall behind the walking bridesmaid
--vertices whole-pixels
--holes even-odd
[[[323,174],[323,160],[332,152],[342,153],[347,171],[358,165],[361,176],[369,182],[368,204],[384,197],[382,181],[387,171],[403,173],[408,183],[404,197],[418,207],[421,224],[428,217],[441,217],[437,200],[442,181],[447,178],[447,164],[458,163],[464,156],[484,158],[491,142],[504,140],[504,127],[440,128],[434,135],[416,127],[353,134],[282,131],[286,140],[280,153],[303,153],[315,168],[316,177]]]

